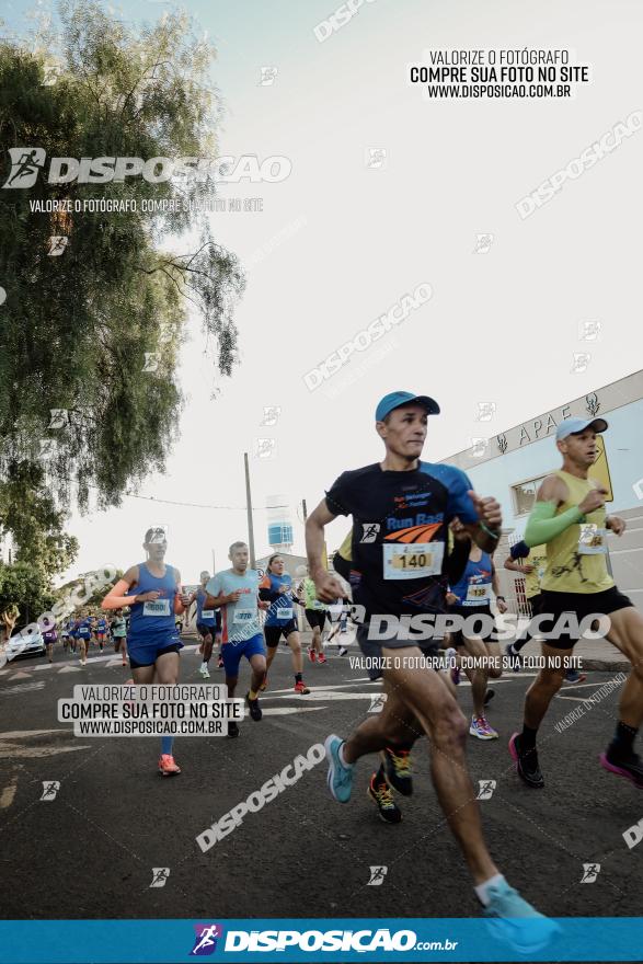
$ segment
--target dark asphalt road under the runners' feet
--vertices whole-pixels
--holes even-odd
[[[198,681],[199,658],[186,640],[182,680]],[[357,655],[352,650],[351,655]],[[57,699],[79,682],[124,682],[119,658],[80,669],[60,649],[49,666],[21,659],[0,670],[0,907],[4,918],[467,917],[478,916],[469,875],[446,828],[428,774],[426,742],[417,744],[415,792],[398,797],[403,822],[388,826],[366,796],[375,758],[358,765],[347,805],[329,795],[321,762],[203,853],[195,838],[244,801],[298,754],[325,736],[347,735],[368,712],[378,685],[349,657],[307,663],[308,697],[290,689],[285,646],[273,665],[264,719],[245,719],[238,739],[175,743],[183,773],[157,774],[158,739],[77,738],[57,721]],[[222,681],[213,670],[211,681]],[[617,695],[586,704],[559,733],[554,723],[596,692],[607,673],[554,700],[541,731],[542,791],[514,772],[507,739],[521,716],[532,674],[494,684],[490,719],[498,741],[469,741],[474,785],[495,780],[481,802],[492,853],[508,881],[551,916],[641,913],[643,846],[623,833],[643,817],[642,797],[605,772],[598,753],[616,721]],[[243,665],[240,693],[245,692]],[[468,686],[459,699],[470,708]],[[41,800],[58,781],[55,800]],[[599,863],[592,884],[584,863]],[[371,867],[388,868],[368,885]],[[168,868],[150,887],[152,868]]]

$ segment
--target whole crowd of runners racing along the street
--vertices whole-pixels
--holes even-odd
[[[333,640],[340,654],[347,652],[351,618],[370,678],[382,678],[386,701],[381,713],[369,714],[346,739],[328,737],[332,796],[347,803],[356,761],[378,754],[379,768],[370,777],[368,795],[383,820],[399,823],[402,813],[394,792],[402,796],[413,792],[412,750],[426,736],[434,788],[483,913],[503,920],[536,921],[547,929],[549,922],[507,883],[487,850],[466,758],[468,736],[498,738],[487,716],[494,697],[489,682],[504,669],[520,667],[520,651],[532,635],[526,629],[501,652],[494,624],[494,613],[507,609],[494,562],[501,505],[494,496],[475,493],[460,469],[421,461],[428,416],[438,413],[437,403],[426,395],[393,392],[380,401],[376,431],[384,458],[340,475],[310,515],[309,567],[298,583],[278,553],[269,558],[265,573],[253,569],[249,547],[239,540],[229,548],[230,566],[213,576],[202,572],[199,586],[187,593],[179,571],[165,562],[164,529],[151,528],[143,539],[145,562],[131,565],[110,589],[100,615],[84,612],[69,620],[60,629],[60,640],[78,652],[82,665],[90,647],[101,651],[111,643],[123,664],[128,662],[136,684],[172,684],[179,678],[183,620],[195,607],[200,636],[197,672],[209,677],[215,653],[231,698],[244,659],[249,664],[244,700],[250,719],[259,723],[261,697],[269,688],[280,642],[290,650],[294,692],[310,693],[303,679],[299,610],[311,630],[307,652],[311,664],[326,663],[325,651]],[[544,665],[527,691],[524,720],[508,744],[518,777],[531,789],[544,787],[537,736],[548,707],[564,682],[584,678],[572,665],[579,633],[554,631],[556,620],[570,615],[577,621],[589,619],[593,626],[607,618],[607,639],[632,663],[616,732],[600,764],[643,788],[643,767],[634,750],[643,720],[643,619],[617,589],[606,563],[606,533],[619,536],[625,524],[607,515],[606,492],[589,474],[597,457],[597,434],[607,428],[602,418],[567,418],[558,426],[562,469],[543,481],[524,538],[503,562],[505,569],[526,576],[530,615],[540,617],[533,636],[541,641]],[[329,571],[322,563],[324,527],[338,516],[351,516],[352,528]],[[324,640],[329,610],[337,613],[337,620]],[[440,613],[456,620],[449,631],[410,633],[413,617]],[[392,638],[372,631],[382,615],[397,621]],[[542,622],[543,615],[549,623]],[[470,629],[474,617],[484,630]],[[51,658],[55,640],[47,642]],[[458,703],[461,673],[471,684],[469,720]],[[230,721],[228,736],[234,738],[239,732]],[[161,741],[158,768],[165,777],[181,772],[172,737]]]

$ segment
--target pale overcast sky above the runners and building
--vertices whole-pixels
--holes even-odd
[[[118,509],[74,513],[69,530],[81,549],[70,575],[139,561],[142,533],[154,524],[169,526],[168,561],[184,582],[211,566],[213,549],[225,567],[228,544],[246,538],[244,451],[257,555],[268,549],[265,501],[274,494],[289,504],[302,551],[301,498],[310,510],[343,470],[381,458],[374,412],[386,392],[438,400],[443,413],[429,420],[424,451],[437,460],[643,367],[643,133],[531,217],[523,220],[515,207],[643,110],[640,3],[375,0],[323,43],[313,27],[334,0],[185,5],[218,47],[213,77],[227,112],[220,154],[284,156],[292,171],[276,184],[222,186],[221,197],[262,197],[264,206],[213,215],[217,240],[250,264],[236,313],[240,364],[232,378],[216,378],[191,318],[181,438],[169,439],[167,473],[140,489],[158,502],[126,497]],[[117,9],[127,20],[151,20],[170,7]],[[5,4],[16,28],[23,12]],[[569,49],[572,62],[589,65],[592,80],[570,100],[428,101],[407,83],[406,68],[444,47]],[[277,69],[272,84],[260,83],[262,68]],[[386,156],[369,167],[371,149]],[[493,242],[476,252],[485,233]],[[428,301],[317,390],[307,388],[307,372],[423,283],[432,286]],[[585,321],[601,322],[599,341],[578,340]],[[592,357],[573,371],[579,352]],[[496,414],[481,426],[484,401]],[[262,426],[273,405],[282,408],[276,425]],[[255,456],[261,438],[274,439],[268,458]],[[333,524],[330,549],[347,527]]]

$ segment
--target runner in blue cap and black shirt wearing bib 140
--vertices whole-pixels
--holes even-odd
[[[329,788],[335,800],[346,803],[359,757],[424,731],[432,745],[433,782],[484,914],[496,923],[502,918],[504,931],[519,934],[523,945],[532,949],[542,946],[554,927],[508,885],[493,862],[467,770],[467,721],[446,677],[418,665],[422,650],[400,621],[403,616],[444,612],[445,549],[452,518],[460,518],[484,551],[495,548],[501,533],[494,498],[475,495],[460,469],[420,461],[427,416],[438,412],[427,395],[386,395],[375,415],[386,447],[383,461],[340,475],[307,521],[310,574],[319,598],[330,601],[342,587],[322,564],[324,526],[338,515],[353,516],[351,584],[354,601],[366,613],[357,640],[365,656],[383,664],[387,693],[382,712],[371,714],[347,741],[328,737]],[[383,620],[393,623],[394,638],[380,642],[369,630]]]

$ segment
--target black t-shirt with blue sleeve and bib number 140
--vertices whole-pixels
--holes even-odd
[[[378,462],[343,472],[326,492],[333,515],[353,516],[353,599],[367,616],[444,611],[448,525],[478,521],[455,466],[420,462],[409,472]]]

